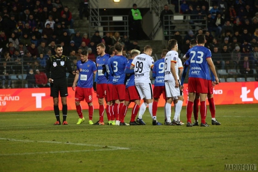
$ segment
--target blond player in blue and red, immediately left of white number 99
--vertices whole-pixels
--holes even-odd
[[[134,107],[132,109],[131,114],[131,120],[129,125],[138,125],[138,123],[135,121],[135,117],[137,116],[137,113],[139,111],[140,107],[140,96],[137,92],[134,84],[134,70],[130,69],[131,63],[134,60],[134,58],[139,55],[141,52],[139,50],[132,50],[131,51],[131,57],[129,57],[129,60],[127,61],[127,65],[125,67],[125,74],[126,74],[126,83],[125,83],[125,103],[122,109],[122,118],[125,117],[127,112],[127,107],[130,105],[131,102],[134,102]],[[124,117],[123,117],[124,116]],[[121,124],[121,122],[120,122]]]

